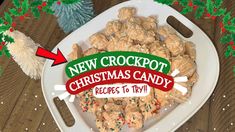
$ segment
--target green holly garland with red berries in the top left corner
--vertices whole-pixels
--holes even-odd
[[[11,57],[8,44],[14,43],[14,39],[11,36],[6,35],[6,32],[13,32],[17,26],[16,22],[13,22],[13,17],[18,17],[20,21],[24,21],[25,18],[32,17],[40,18],[40,12],[47,14],[53,14],[51,6],[56,2],[58,5],[72,4],[79,2],[80,0],[12,0],[13,8],[4,13],[4,16],[0,18],[0,57],[6,55]]]

